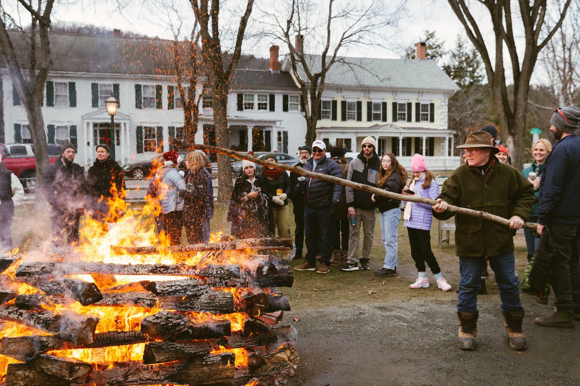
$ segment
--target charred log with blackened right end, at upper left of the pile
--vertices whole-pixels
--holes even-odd
[[[47,295],[61,294],[78,301],[82,305],[89,305],[103,298],[95,283],[89,283],[79,279],[60,277],[49,280],[47,278],[34,276],[21,276],[17,280],[38,288]]]

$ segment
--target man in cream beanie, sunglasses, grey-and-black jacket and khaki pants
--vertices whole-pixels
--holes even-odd
[[[376,141],[373,137],[366,137],[362,140],[362,150],[357,158],[350,162],[347,180],[359,184],[376,187],[379,179],[380,158],[376,154]],[[371,200],[372,194],[363,190],[355,190],[346,187],[346,205],[349,208],[349,219],[353,221],[349,235],[349,254],[346,264],[340,271],[350,272],[358,270],[358,261],[361,263],[361,270],[369,270],[369,255],[371,254],[372,239],[375,234],[376,206]],[[362,256],[358,258],[358,239],[362,224]],[[394,276],[397,267],[383,267],[379,270],[381,275]]]

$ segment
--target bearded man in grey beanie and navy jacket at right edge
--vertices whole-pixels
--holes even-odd
[[[536,318],[547,327],[574,328],[580,322],[580,108],[557,108],[550,131],[558,140],[546,157],[539,187],[538,234],[548,227],[556,245],[552,288],[556,311]]]

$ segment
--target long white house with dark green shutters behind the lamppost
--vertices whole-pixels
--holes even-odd
[[[95,161],[98,143],[107,143],[121,164],[171,150],[172,138],[183,139],[184,122],[175,77],[164,75],[172,70],[171,45],[161,39],[53,34],[54,65],[42,104],[48,142],[76,144],[75,161],[85,167]],[[270,70],[238,69],[233,75],[229,142],[241,151],[294,153],[306,132],[299,90],[291,75],[280,71],[276,46],[270,56]],[[26,111],[6,68],[0,73],[5,141],[31,143]],[[201,92],[202,79],[198,83]],[[104,107],[111,95],[120,104],[114,131]],[[195,142],[213,145],[212,101],[201,104]]]

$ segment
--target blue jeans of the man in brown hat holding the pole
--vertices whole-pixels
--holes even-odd
[[[488,256],[490,267],[495,273],[498,283],[499,298],[502,312],[521,311],[520,281],[516,278],[516,259],[513,252]],[[459,257],[459,300],[457,311],[477,311],[477,293],[481,287],[481,271],[485,265],[485,257]]]

